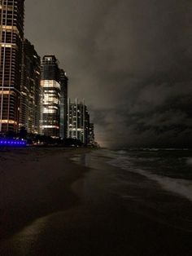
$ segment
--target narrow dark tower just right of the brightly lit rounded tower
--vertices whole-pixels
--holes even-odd
[[[62,139],[67,138],[67,130],[68,130],[68,77],[67,74],[60,69],[60,77],[59,77],[60,85],[61,85],[61,104],[60,104],[60,137]]]

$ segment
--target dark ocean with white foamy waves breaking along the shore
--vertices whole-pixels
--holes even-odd
[[[192,201],[192,152],[176,149],[142,149],[115,152],[108,161],[122,170],[141,174],[170,192]],[[126,177],[126,175],[124,176]]]

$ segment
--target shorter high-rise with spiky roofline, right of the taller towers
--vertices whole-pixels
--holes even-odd
[[[84,101],[71,103],[68,99],[68,138],[89,143],[89,113]]]

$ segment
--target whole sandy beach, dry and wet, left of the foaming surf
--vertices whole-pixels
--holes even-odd
[[[185,198],[139,174],[128,174],[129,196],[120,198],[110,187],[116,167],[68,160],[83,150],[22,153],[14,167],[1,162],[0,255],[192,254],[192,205]]]

